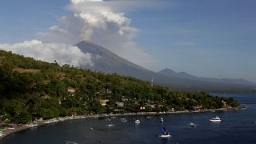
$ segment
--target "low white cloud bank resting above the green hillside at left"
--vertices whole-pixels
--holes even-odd
[[[0,44],[0,49],[45,62],[56,60],[61,65],[80,66],[80,64],[83,64],[93,66],[91,54],[84,54],[77,46],[63,43],[43,43],[38,40],[31,40],[15,44]]]

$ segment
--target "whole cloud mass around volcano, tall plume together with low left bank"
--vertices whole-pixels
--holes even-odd
[[[58,18],[59,25],[39,31],[35,40],[6,44],[0,49],[12,51],[46,62],[57,60],[60,64],[93,66],[97,55],[84,54],[76,43],[86,40],[94,42],[140,66],[153,66],[156,62],[150,54],[134,42],[139,30],[131,26],[126,17],[129,10],[161,7],[154,1],[102,1],[70,0],[66,10],[69,15]]]

